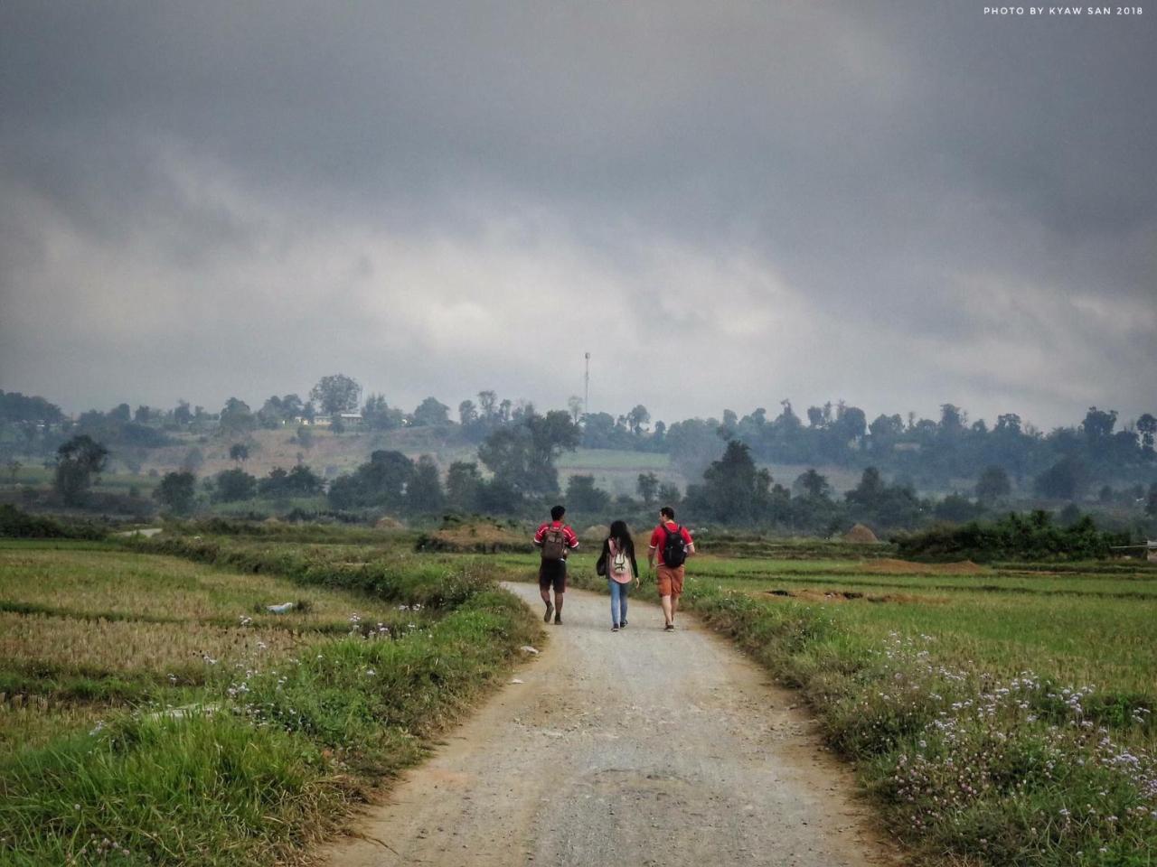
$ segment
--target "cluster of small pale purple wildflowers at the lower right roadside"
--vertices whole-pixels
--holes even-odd
[[[855,704],[858,742],[876,748],[880,791],[914,836],[992,862],[1055,864],[1157,833],[1157,758],[1091,718],[1095,687],[944,668],[896,635],[879,658],[882,686]]]

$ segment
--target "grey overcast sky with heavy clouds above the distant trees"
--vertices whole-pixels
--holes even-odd
[[[0,388],[1157,412],[1157,8],[1024,9],[6,0]]]

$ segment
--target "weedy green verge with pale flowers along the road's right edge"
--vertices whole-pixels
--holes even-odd
[[[880,639],[846,620],[846,607],[703,585],[684,602],[803,690],[827,741],[856,763],[921,860],[1152,862],[1152,690],[997,676],[927,633]]]

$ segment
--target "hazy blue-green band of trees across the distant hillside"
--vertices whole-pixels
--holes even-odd
[[[570,399],[567,409],[544,415],[531,403],[484,391],[459,403],[455,421],[450,408],[433,397],[404,412],[381,394],[363,401],[361,392],[352,378],[334,375],[319,380],[305,400],[272,395],[257,410],[230,398],[218,413],[184,401],[165,410],[121,403],[75,420],[43,398],[0,392],[0,445],[9,455],[49,457],[45,464],[54,468],[56,488],[66,503],[80,502],[87,475],[100,472],[109,449],[139,453],[186,440],[189,433],[244,440],[257,429],[288,427],[308,450],[320,423],[338,435],[428,428],[448,444],[477,447],[477,460],[449,467],[440,467],[432,455],[412,460],[379,449],[354,472],[326,483],[301,454],[295,467],[275,467],[260,479],[250,475],[243,468],[248,446],[238,442],[230,449],[236,467],[198,480],[198,464],[186,462],[162,480],[155,496],[177,513],[198,503],[264,499],[282,506],[309,501],[315,510],[351,517],[442,510],[518,514],[565,496],[573,511],[584,514],[611,507],[642,513],[664,502],[683,504],[700,520],[833,532],[853,521],[879,529],[968,521],[1007,507],[1015,494],[1048,501],[1096,495],[1101,504],[1128,506],[1134,514],[1157,511],[1157,420],[1148,413],[1119,428],[1117,412],[1091,407],[1079,424],[1044,433],[1015,414],[998,416],[992,427],[983,420],[970,422],[965,410],[950,403],[936,421],[909,414],[868,422],[861,409],[843,402],[810,407],[804,421],[783,401],[772,418],[762,409],[742,417],[724,410],[722,420],[666,425],[651,423],[642,405],[612,417],[583,414],[581,401]],[[589,475],[560,484],[555,459],[578,446],[669,453],[688,486],[684,494],[644,473],[638,496],[614,499]],[[862,467],[863,475],[855,488],[838,492],[816,469],[773,479],[760,464]],[[956,492],[938,501],[916,494],[934,487]]]

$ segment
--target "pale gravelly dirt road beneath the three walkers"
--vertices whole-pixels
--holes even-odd
[[[508,588],[541,612],[538,588]],[[567,593],[566,621],[331,867],[896,864],[790,692],[690,618]]]

